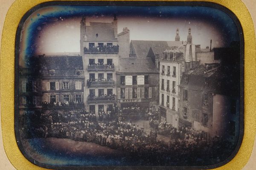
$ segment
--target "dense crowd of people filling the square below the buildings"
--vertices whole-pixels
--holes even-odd
[[[120,111],[127,111],[127,109],[123,108]],[[129,111],[140,111],[139,107],[129,109]],[[157,116],[151,112],[151,109],[145,109],[145,111],[148,115]],[[103,113],[105,114],[105,112]],[[29,137],[67,138],[93,142],[122,150],[130,155],[128,159],[149,165],[211,164],[216,163],[217,158],[218,161],[227,158],[233,150],[232,144],[219,138],[207,141],[202,132],[188,127],[175,128],[170,124],[160,123],[158,130],[151,129],[150,133],[147,133],[136,124],[122,121],[119,119],[120,115],[115,116],[116,119],[102,121],[96,120],[95,113],[86,111],[42,113],[38,121],[41,123],[35,124],[33,128],[29,129]],[[103,117],[102,119],[104,119]],[[170,135],[169,142],[157,137],[163,132]],[[223,150],[225,152],[220,154]]]

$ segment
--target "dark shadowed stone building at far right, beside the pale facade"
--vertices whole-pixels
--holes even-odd
[[[183,74],[179,124],[203,131],[205,139],[224,136],[235,140],[239,133],[239,97],[229,93],[227,75],[221,73],[220,65],[213,63]]]

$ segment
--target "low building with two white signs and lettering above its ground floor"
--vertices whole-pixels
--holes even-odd
[[[116,72],[119,107],[157,105],[158,74],[151,58],[120,59],[119,71]]]

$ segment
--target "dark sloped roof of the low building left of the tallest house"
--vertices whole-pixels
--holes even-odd
[[[48,56],[44,57],[44,68],[47,70],[83,70],[81,56]]]

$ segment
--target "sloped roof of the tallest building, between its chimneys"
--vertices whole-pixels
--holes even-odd
[[[86,41],[117,41],[113,23],[86,23]],[[98,37],[96,36],[98,34]]]

